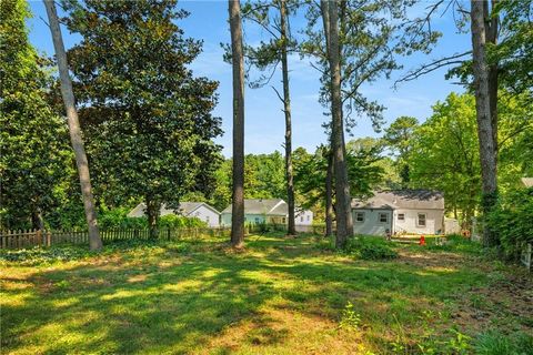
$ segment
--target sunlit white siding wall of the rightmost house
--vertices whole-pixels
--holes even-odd
[[[419,213],[425,214],[425,226],[418,224]],[[404,221],[399,221],[398,215],[403,214]],[[394,232],[412,233],[412,234],[436,234],[438,231],[443,233],[444,226],[443,210],[402,210],[394,211]]]

